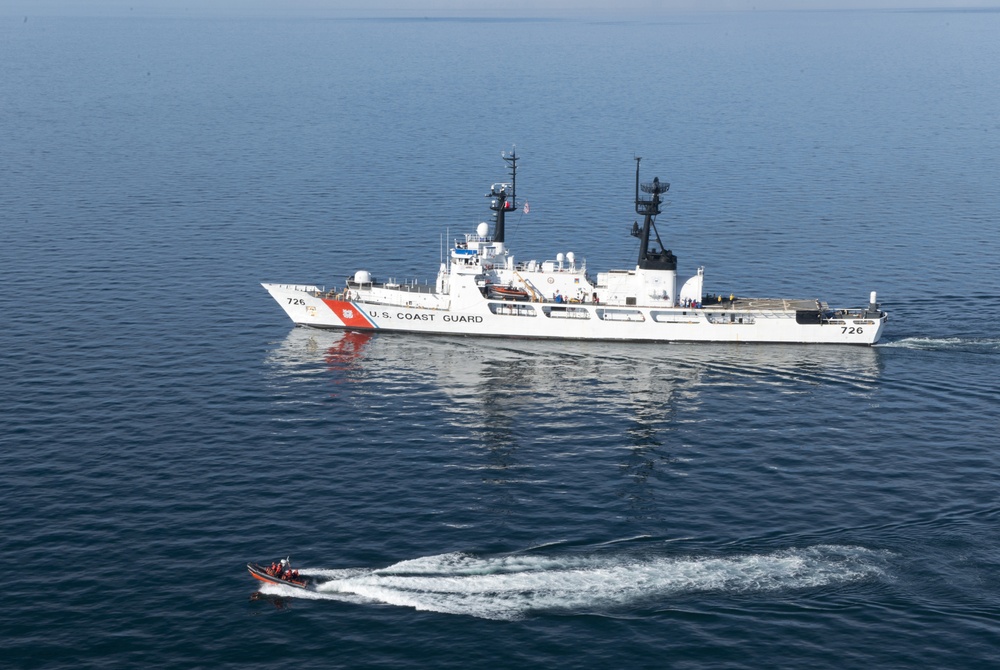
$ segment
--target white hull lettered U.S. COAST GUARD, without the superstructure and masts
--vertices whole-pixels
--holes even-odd
[[[298,325],[364,331],[627,342],[756,342],[872,345],[886,315],[824,313],[808,301],[741,298],[682,308],[594,303],[554,304],[493,298],[355,291],[334,294],[312,285],[262,284]],[[427,305],[427,306],[422,306]],[[803,309],[805,308],[805,309]]]

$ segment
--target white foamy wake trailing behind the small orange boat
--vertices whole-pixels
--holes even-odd
[[[513,620],[533,612],[655,608],[665,598],[690,593],[748,594],[877,579],[885,574],[884,564],[884,552],[837,545],[645,559],[450,553],[381,569],[303,569],[321,580],[316,590],[268,585],[265,592]]]

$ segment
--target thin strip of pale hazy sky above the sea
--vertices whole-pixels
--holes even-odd
[[[1000,8],[1000,0],[2,0],[0,15],[608,17],[672,11]]]

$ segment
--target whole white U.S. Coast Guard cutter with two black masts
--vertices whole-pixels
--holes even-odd
[[[592,277],[573,253],[517,261],[504,218],[518,209],[517,157],[503,155],[509,183],[487,194],[490,225],[456,240],[434,285],[378,281],[359,270],[332,290],[263,284],[296,324],[316,328],[495,337],[649,342],[790,342],[871,345],[888,318],[873,291],[867,307],[831,309],[815,299],[705,295],[704,269],[677,287],[677,257],[656,229],[670,185],[639,183],[635,170],[635,268]],[[640,196],[640,190],[642,195]]]

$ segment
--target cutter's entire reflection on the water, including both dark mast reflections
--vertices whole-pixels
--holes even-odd
[[[503,516],[515,484],[545,479],[557,459],[610,459],[615,495],[630,513],[657,506],[651,478],[687,476],[692,444],[740,439],[741,430],[808,425],[819,394],[876,393],[877,348],[809,345],[625,344],[507,340],[295,328],[270,355],[275,374],[307,384],[366,430],[433,436],[449,467],[490,487]],[[314,386],[322,382],[319,386]],[[334,390],[331,392],[331,385]],[[755,424],[754,403],[766,416]],[[728,420],[737,412],[742,428]],[[784,412],[785,414],[780,414]],[[407,430],[403,430],[403,427]],[[816,427],[818,431],[824,426]],[[837,428],[833,428],[837,430]],[[711,436],[711,437],[706,437]],[[474,471],[474,472],[472,472]]]

